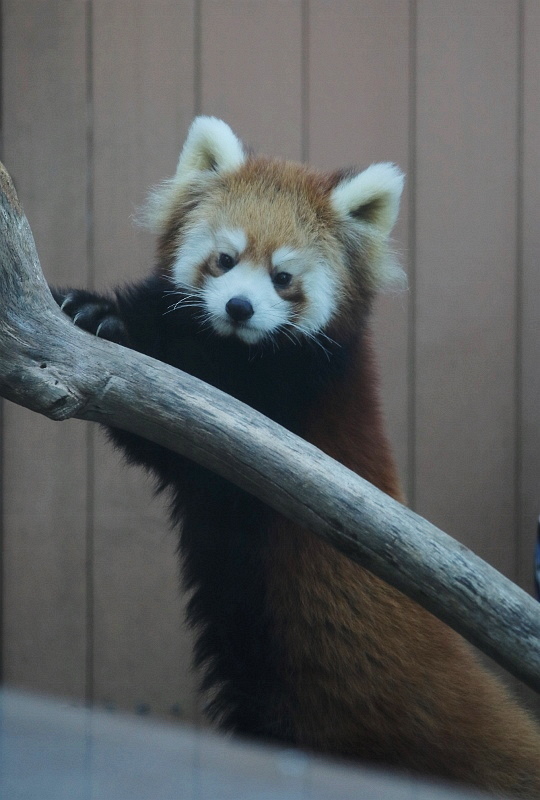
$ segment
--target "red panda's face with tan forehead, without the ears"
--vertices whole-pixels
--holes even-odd
[[[280,333],[309,337],[339,307],[347,280],[340,250],[298,176],[291,181],[296,169],[248,162],[183,219],[171,277],[218,334],[247,344]]]

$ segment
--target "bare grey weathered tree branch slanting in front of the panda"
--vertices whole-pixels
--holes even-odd
[[[242,403],[60,312],[0,173],[0,395],[194,459],[403,591],[540,691],[537,603],[472,552]]]

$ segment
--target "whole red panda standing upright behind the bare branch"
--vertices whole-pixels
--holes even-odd
[[[403,176],[246,152],[200,117],[151,196],[157,258],[110,296],[55,290],[82,328],[219,387],[384,492],[369,314],[399,270]],[[238,734],[540,798],[540,734],[466,643],[333,548],[202,467],[111,429],[172,497],[211,717]]]

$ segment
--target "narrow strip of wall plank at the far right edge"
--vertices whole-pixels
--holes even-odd
[[[540,514],[540,4],[536,0],[525,0],[524,12],[518,576],[522,585],[530,590],[536,520]]]

